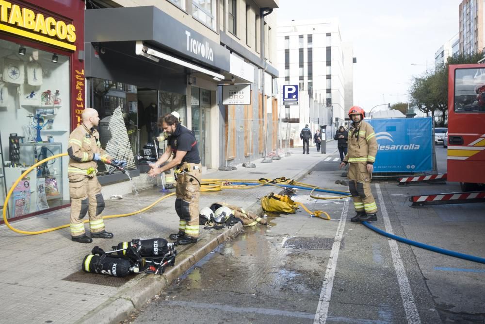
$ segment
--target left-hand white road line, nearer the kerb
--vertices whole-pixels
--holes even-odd
[[[349,209],[349,200],[343,203],[343,210],[340,216],[339,226],[335,234],[330,257],[328,258],[327,269],[325,270],[325,277],[323,278],[322,290],[320,291],[320,298],[318,300],[318,307],[315,314],[314,324],[326,323],[328,316],[328,307],[330,306],[330,297],[332,295],[333,281],[335,278],[335,270],[337,269],[337,259],[339,258],[340,242],[343,236],[343,229],[345,228],[345,220],[347,219],[347,211]]]

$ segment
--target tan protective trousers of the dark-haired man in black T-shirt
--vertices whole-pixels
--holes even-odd
[[[177,172],[177,188],[175,189],[177,210],[180,223],[178,229],[186,236],[199,237],[199,197],[202,164],[185,162]],[[197,181],[197,180],[198,181]]]

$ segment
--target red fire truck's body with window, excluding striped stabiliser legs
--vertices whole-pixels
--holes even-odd
[[[485,190],[485,64],[448,71],[448,180]]]

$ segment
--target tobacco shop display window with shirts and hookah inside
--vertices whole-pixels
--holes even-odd
[[[20,53],[20,55],[19,55]],[[29,166],[64,153],[70,129],[69,58],[0,40],[0,205]],[[56,158],[14,189],[8,217],[69,202],[67,159]]]

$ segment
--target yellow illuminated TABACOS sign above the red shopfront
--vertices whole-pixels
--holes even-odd
[[[4,0],[0,0],[0,31],[76,51],[74,25]]]

